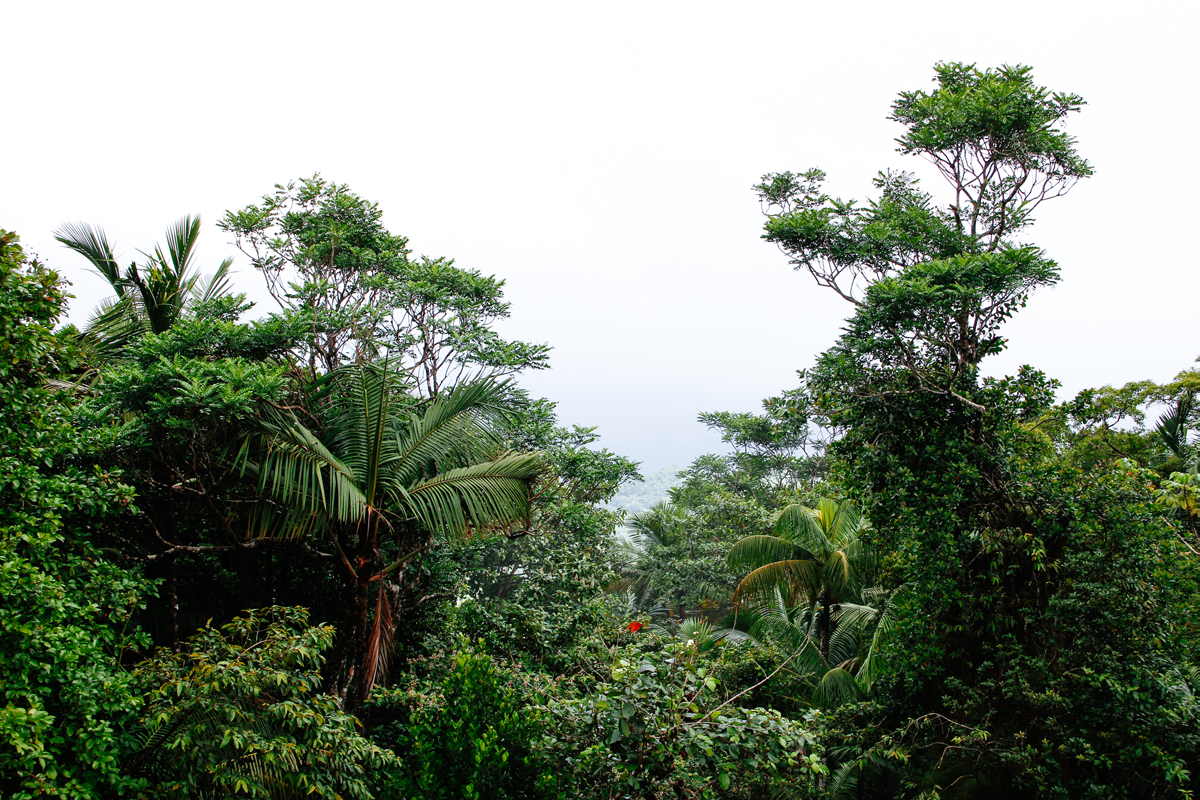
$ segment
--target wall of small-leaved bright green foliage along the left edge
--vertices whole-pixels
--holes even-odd
[[[132,493],[79,465],[97,443],[46,385],[70,366],[50,332],[64,300],[0,230],[0,793],[14,800],[128,787],[118,758],[139,703],[118,658],[148,587],[88,541]]]

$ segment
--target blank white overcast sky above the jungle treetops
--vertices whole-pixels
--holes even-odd
[[[0,227],[104,291],[52,239],[100,224],[132,258],[320,172],[418,253],[508,281],[524,379],[647,470],[718,449],[703,410],[757,410],[848,308],[762,242],[750,186],[821,167],[864,198],[896,92],[938,60],[1028,64],[1087,101],[1096,178],[1030,239],[1062,265],[995,373],[1063,395],[1170,379],[1200,355],[1195,2],[23,2],[4,12]],[[931,188],[938,187],[934,181]],[[242,290],[263,296],[245,266]]]

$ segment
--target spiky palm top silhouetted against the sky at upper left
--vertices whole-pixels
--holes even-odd
[[[224,259],[205,282],[193,264],[200,235],[200,217],[185,216],[167,229],[166,249],[156,245],[142,253],[145,263],[130,263],[122,271],[103,229],[83,222],[54,233],[59,243],[79,253],[115,293],[101,303],[79,342],[97,357],[118,355],[143,333],[162,333],[174,326],[197,300],[212,300],[229,290],[233,259]]]

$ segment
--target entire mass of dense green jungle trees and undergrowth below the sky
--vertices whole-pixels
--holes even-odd
[[[1200,372],[983,377],[1084,101],[935,78],[890,119],[943,186],[755,186],[845,329],[635,513],[504,282],[346,186],[217,222],[258,315],[198,217],[127,265],[56,231],[112,288],[82,329],[0,231],[0,794],[1190,798]]]

